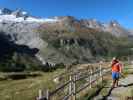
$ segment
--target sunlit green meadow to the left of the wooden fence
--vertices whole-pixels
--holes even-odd
[[[54,72],[40,72],[42,76],[34,78],[0,81],[0,99],[35,100],[39,89],[54,89],[56,84],[51,79],[63,71],[57,69]]]

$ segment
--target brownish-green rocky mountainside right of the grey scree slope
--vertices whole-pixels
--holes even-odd
[[[74,17],[61,17],[59,20],[56,23],[43,23],[38,28],[41,38],[48,43],[47,47],[54,50],[50,54],[50,59],[55,58],[52,59],[55,62],[90,62],[96,60],[96,57],[109,56],[118,52],[119,47],[125,48],[129,44],[129,33],[125,29],[119,34],[117,30],[115,33],[110,33],[100,28],[102,27],[100,23],[98,25],[93,23],[90,28],[87,21],[85,23]],[[120,28],[118,25],[117,27]],[[46,56],[49,52],[45,50],[47,49],[41,52]]]

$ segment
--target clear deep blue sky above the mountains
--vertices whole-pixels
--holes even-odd
[[[74,16],[133,28],[133,0],[0,0],[0,8],[21,8],[39,17]]]

